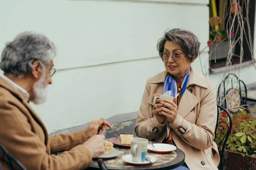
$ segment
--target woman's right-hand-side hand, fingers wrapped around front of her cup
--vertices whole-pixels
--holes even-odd
[[[173,101],[170,99],[163,99],[163,102],[160,102],[160,104],[167,107],[161,107],[162,111],[160,113],[167,118],[169,123],[172,123],[177,117],[177,98]]]

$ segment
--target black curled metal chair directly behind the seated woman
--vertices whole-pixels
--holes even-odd
[[[223,159],[224,159],[224,151],[226,149],[226,144],[227,144],[227,139],[230,136],[230,132],[232,129],[232,119],[230,116],[230,113],[223,107],[217,105],[218,108],[218,114],[217,114],[217,123],[216,123],[216,127],[215,127],[215,139],[214,141],[216,142],[216,133],[217,133],[217,129],[220,131],[226,131],[227,133],[224,133],[224,138],[221,140],[221,142],[217,143],[218,144],[218,150],[221,150],[221,154],[220,154],[220,170],[223,170]],[[220,114],[220,110],[224,111],[225,113],[227,113],[228,119],[229,119],[229,123],[228,122],[219,122],[219,114]]]

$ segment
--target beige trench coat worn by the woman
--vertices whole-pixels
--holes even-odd
[[[163,94],[166,71],[148,79],[138,113],[135,132],[137,136],[148,140],[163,142],[167,135],[166,126],[172,130],[172,139],[177,148],[185,155],[185,162],[190,170],[218,170],[220,158],[218,151],[213,157],[212,149],[217,150],[213,142],[217,121],[217,103],[215,85],[193,68],[189,76],[186,90],[180,99],[178,116],[172,124],[160,124],[152,111],[153,99]],[[181,134],[177,129],[182,126],[186,132]],[[154,127],[157,127],[153,130]],[[205,162],[205,165],[201,163]]]

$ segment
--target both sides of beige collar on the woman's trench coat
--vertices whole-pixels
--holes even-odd
[[[196,71],[194,68],[190,67],[190,75],[189,75],[189,81],[187,84],[187,87],[189,87],[189,85],[198,85],[202,88],[207,88],[208,83],[207,83],[207,79],[204,75],[198,73],[198,71]],[[157,83],[164,83],[164,79],[166,77],[167,71],[163,71],[157,75],[155,75],[151,80],[150,83],[151,84],[157,84]]]

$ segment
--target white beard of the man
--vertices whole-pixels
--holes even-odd
[[[39,79],[33,87],[34,99],[32,99],[31,102],[33,102],[35,105],[43,104],[47,100],[48,85],[44,87],[45,77],[46,77],[46,71],[44,71],[41,79]]]

